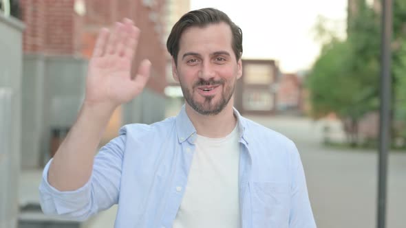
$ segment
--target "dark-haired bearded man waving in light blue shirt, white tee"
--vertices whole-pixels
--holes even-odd
[[[127,19],[100,32],[77,122],[43,173],[43,211],[85,220],[118,203],[116,227],[315,227],[295,144],[233,109],[242,31],[213,8],[182,16],[167,41],[179,115],[124,126],[94,157],[111,113],[147,82],[148,60],[130,74],[138,34]]]

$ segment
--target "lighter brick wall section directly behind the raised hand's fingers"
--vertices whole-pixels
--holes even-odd
[[[86,0],[87,12],[81,34],[81,54],[88,57],[92,55],[100,27],[110,27],[115,21],[121,21],[127,17],[133,20],[141,30],[133,73],[136,73],[138,65],[143,59],[151,60],[152,73],[147,87],[156,93],[163,94],[164,87],[166,87],[165,54],[167,53],[165,45],[161,43],[164,35],[162,17],[164,1],[155,1],[156,4],[151,6],[144,5],[142,2],[141,0]],[[150,15],[156,15],[156,20],[153,21],[154,16]],[[158,30],[158,28],[161,29]]]

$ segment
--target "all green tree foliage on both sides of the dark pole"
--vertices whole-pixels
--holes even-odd
[[[323,41],[306,84],[312,116],[334,112],[341,119],[358,121],[365,113],[378,111],[381,61],[381,15],[357,1],[356,14],[348,21],[348,38],[339,41],[323,22],[317,25]],[[406,138],[406,0],[394,0],[392,42],[392,109],[398,124],[395,136]],[[400,126],[400,127],[399,127]]]

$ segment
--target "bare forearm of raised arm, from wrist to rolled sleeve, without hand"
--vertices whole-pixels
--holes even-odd
[[[59,146],[48,172],[48,182],[60,191],[76,190],[92,175],[94,155],[114,111],[111,105],[84,103],[78,119]]]

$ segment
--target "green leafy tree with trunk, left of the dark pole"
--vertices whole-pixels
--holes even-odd
[[[378,109],[378,27],[376,14],[366,4],[348,23],[345,41],[331,35],[308,77],[313,117],[336,113],[348,141],[358,141],[358,122]],[[325,27],[318,25],[325,40]],[[328,39],[327,39],[328,40]]]

